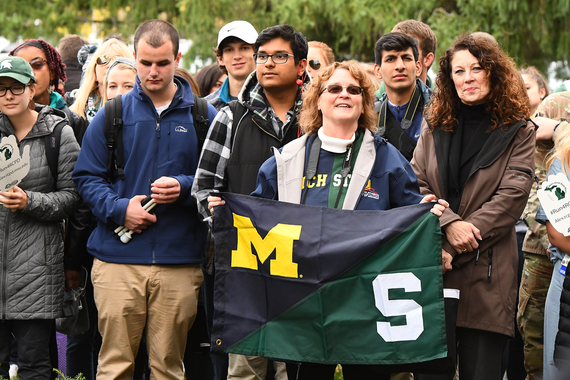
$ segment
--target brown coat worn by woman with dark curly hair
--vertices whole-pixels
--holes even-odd
[[[424,120],[412,167],[422,195],[445,199],[451,133]],[[443,213],[442,231],[455,220],[473,223],[484,240],[477,250],[457,254],[443,236],[443,249],[454,256],[453,269],[443,275],[445,288],[459,289],[457,326],[514,336],[518,249],[515,223],[526,205],[534,174],[535,130],[529,122],[516,122],[491,132],[478,153],[461,195],[458,213]],[[444,185],[445,184],[445,185]],[[492,249],[490,282],[488,255]]]

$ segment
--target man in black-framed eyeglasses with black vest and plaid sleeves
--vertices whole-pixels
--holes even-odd
[[[238,100],[215,117],[207,134],[192,195],[207,222],[212,215],[210,192],[249,195],[255,190],[259,168],[300,134],[298,115],[303,104],[301,86],[308,83],[307,40],[287,24],[264,29],[254,43],[255,72],[246,80]],[[213,299],[213,258],[205,271],[205,302]],[[210,288],[207,287],[208,284]],[[208,316],[211,321],[212,316]],[[276,379],[286,379],[283,363],[276,363]],[[267,359],[230,354],[228,379],[266,378]]]

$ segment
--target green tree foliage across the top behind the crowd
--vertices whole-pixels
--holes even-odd
[[[194,44],[187,58],[213,56],[223,24],[245,19],[258,31],[288,23],[308,40],[320,40],[339,58],[373,61],[374,42],[399,21],[417,19],[438,38],[438,56],[463,31],[495,36],[519,65],[545,70],[570,56],[570,0],[17,0],[0,5],[0,35],[42,37],[86,34],[130,36],[146,19],[172,22]],[[38,20],[39,21],[36,21]]]

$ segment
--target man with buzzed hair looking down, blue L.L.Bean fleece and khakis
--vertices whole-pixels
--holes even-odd
[[[95,256],[91,279],[103,336],[97,379],[131,378],[145,328],[153,377],[181,379],[207,232],[190,195],[200,157],[194,101],[189,83],[174,76],[180,52],[171,24],[141,24],[135,58],[135,88],[122,98],[125,178],[119,179],[115,169],[107,181],[104,111],[87,129],[73,174],[99,219],[87,244]],[[210,122],[215,115],[208,105]],[[161,204],[153,214],[140,204],[149,183]],[[139,233],[124,244],[112,235],[117,224]]]

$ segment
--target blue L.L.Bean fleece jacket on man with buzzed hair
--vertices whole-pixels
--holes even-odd
[[[190,108],[194,99],[188,81],[175,76],[174,83],[176,95],[160,117],[141,89],[138,76],[135,88],[122,97],[125,179],[118,179],[115,170],[112,183],[107,183],[104,108],[83,137],[72,178],[99,219],[87,243],[87,251],[97,259],[128,264],[192,264],[203,259],[207,227],[190,195],[200,158]],[[209,124],[216,113],[208,105]],[[149,179],[163,176],[180,182],[180,197],[174,203],[160,205],[153,211],[156,223],[134,234],[129,243],[122,243],[112,232],[115,223],[123,224],[129,199],[148,195]]]

